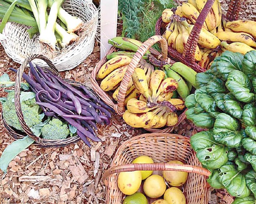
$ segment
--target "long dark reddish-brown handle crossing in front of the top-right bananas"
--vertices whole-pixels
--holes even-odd
[[[184,52],[183,52],[183,58],[188,60],[191,64],[195,63],[195,49],[196,49],[196,46],[198,43],[199,34],[203,27],[203,23],[208,15],[212,5],[214,4],[214,1],[215,0],[207,0],[206,4],[203,7],[203,10],[199,14],[199,16],[195,22],[195,26],[193,27],[193,29],[189,35],[189,38],[187,40],[187,43],[185,45]]]

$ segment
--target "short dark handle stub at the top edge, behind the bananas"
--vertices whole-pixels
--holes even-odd
[[[226,19],[228,21],[238,20],[239,14],[242,11],[242,0],[230,0],[230,5],[228,6]]]

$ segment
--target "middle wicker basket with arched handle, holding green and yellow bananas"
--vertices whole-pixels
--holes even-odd
[[[156,50],[152,49],[151,46],[153,46],[153,44],[156,44],[158,41],[160,41],[161,43],[161,47],[162,47],[162,54],[160,54],[159,52],[157,52]],[[137,67],[137,65],[139,64],[140,60],[142,59],[143,55],[147,52],[147,50],[150,50],[151,54],[153,54],[154,56],[157,56],[158,59],[160,59],[163,62],[169,63],[169,64],[173,64],[174,61],[170,60],[167,57],[167,41],[166,39],[164,39],[162,36],[152,36],[150,37],[148,40],[146,40],[137,50],[137,52],[135,53],[134,57],[132,58],[132,61],[130,62],[127,71],[124,75],[123,80],[121,81],[120,84],[120,89],[119,89],[119,93],[118,93],[118,100],[117,100],[117,104],[114,102],[114,100],[112,100],[112,97],[108,95],[108,93],[104,92],[101,88],[100,85],[98,84],[97,80],[96,80],[96,75],[98,74],[98,71],[100,70],[100,67],[102,67],[102,65],[107,62],[107,58],[104,57],[103,59],[100,60],[100,62],[98,62],[98,64],[95,66],[94,70],[92,71],[91,74],[91,83],[92,83],[92,88],[95,91],[95,93],[98,94],[98,96],[106,103],[108,104],[108,106],[110,106],[111,108],[113,108],[117,114],[122,115],[124,114],[125,111],[125,107],[124,107],[124,101],[125,101],[125,93],[127,91],[127,87],[129,84],[129,81],[132,78],[132,74],[135,70],[135,68]],[[113,52],[116,51],[116,48],[112,47],[108,53],[111,54]],[[185,119],[185,111],[182,112],[182,114],[179,115],[179,120],[178,123],[173,126],[173,127],[166,127],[164,129],[146,129],[149,132],[172,132],[173,129],[178,126],[184,119]]]

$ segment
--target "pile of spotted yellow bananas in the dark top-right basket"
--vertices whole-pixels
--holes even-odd
[[[169,23],[163,36],[168,45],[183,53],[189,34],[202,11],[206,0],[188,0],[175,9],[165,9],[162,20]],[[245,54],[256,47],[256,22],[226,22],[219,0],[215,0],[199,35],[195,61],[208,69],[215,57],[229,50]]]

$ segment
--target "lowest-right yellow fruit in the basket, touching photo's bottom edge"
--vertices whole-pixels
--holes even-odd
[[[164,193],[164,199],[169,204],[186,204],[186,198],[177,187],[171,187]]]

